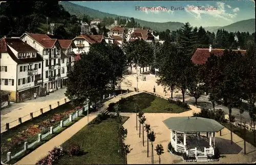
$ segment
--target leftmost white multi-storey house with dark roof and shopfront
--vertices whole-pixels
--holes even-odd
[[[10,92],[10,100],[21,102],[38,95],[43,68],[38,51],[19,38],[2,38],[0,55],[1,90]]]

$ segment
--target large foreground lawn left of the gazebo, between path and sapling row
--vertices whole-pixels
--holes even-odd
[[[122,116],[122,123],[129,117]],[[108,118],[98,125],[87,125],[61,146],[67,151],[78,145],[86,154],[60,157],[56,164],[123,164],[116,130],[116,119]]]

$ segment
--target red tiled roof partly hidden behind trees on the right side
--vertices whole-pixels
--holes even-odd
[[[240,51],[241,54],[245,54],[246,50],[233,50],[233,51]],[[194,55],[191,57],[191,60],[194,64],[205,64],[207,59],[210,57],[210,53],[213,53],[216,56],[222,56],[224,53],[224,49],[197,49]]]

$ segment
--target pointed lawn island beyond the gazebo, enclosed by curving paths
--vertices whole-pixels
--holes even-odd
[[[169,103],[168,100],[148,93],[122,98],[119,101],[120,112],[135,113],[134,105],[137,103],[143,113],[181,113],[188,109]],[[112,110],[113,111],[113,110]]]

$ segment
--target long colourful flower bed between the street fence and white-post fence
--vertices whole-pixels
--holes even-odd
[[[2,142],[1,142],[2,159],[3,160],[6,159],[7,152],[11,152],[15,154],[23,150],[24,142],[27,141],[30,144],[36,141],[39,133],[45,134],[49,132],[50,127],[59,125],[60,120],[68,118],[70,114],[74,113],[76,110],[80,108],[81,107],[76,107],[74,109],[69,109],[65,112],[54,113],[51,116],[49,116],[51,118],[45,118],[34,124],[31,123],[31,125],[29,125],[27,128],[24,128],[23,130],[19,130],[18,132],[16,132],[16,134],[14,134],[11,138],[8,138],[7,140],[2,138]]]

